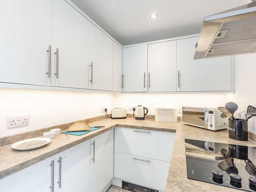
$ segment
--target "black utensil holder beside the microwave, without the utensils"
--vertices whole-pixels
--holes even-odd
[[[228,137],[239,141],[248,141],[248,122],[243,119],[229,119]]]

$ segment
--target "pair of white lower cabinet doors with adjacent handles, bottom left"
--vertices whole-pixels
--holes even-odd
[[[89,166],[90,140],[0,179],[0,191],[89,192]]]

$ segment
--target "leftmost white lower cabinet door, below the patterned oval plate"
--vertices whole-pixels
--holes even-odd
[[[51,192],[53,160],[52,156],[0,179],[1,192]]]

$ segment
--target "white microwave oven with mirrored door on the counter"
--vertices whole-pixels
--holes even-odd
[[[182,123],[217,131],[228,128],[228,118],[221,118],[216,108],[182,107]]]

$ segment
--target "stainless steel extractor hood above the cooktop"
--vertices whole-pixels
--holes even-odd
[[[204,18],[194,59],[256,53],[256,2]]]

